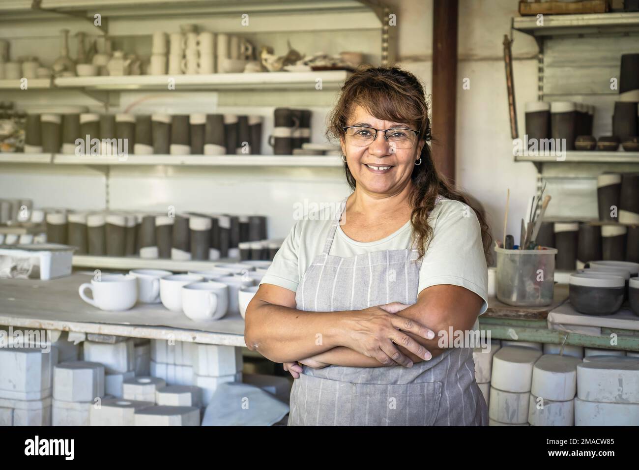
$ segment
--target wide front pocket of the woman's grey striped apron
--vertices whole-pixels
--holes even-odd
[[[431,426],[442,396],[442,382],[354,384],[353,426]]]

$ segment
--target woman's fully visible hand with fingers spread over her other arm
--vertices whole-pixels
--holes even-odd
[[[435,338],[435,332],[410,318],[397,317],[398,311],[408,307],[399,302],[353,310],[344,318],[344,346],[374,357],[381,364],[412,367],[413,361],[397,349],[400,345],[426,361],[432,355],[406,333],[417,334],[426,340]],[[404,333],[406,332],[406,333]]]

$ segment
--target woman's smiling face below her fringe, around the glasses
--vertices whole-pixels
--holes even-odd
[[[353,109],[346,125],[374,129],[415,129],[408,123],[378,119],[361,106]],[[410,183],[410,175],[423,146],[424,141],[415,139],[411,148],[396,148],[392,142],[386,141],[383,132],[378,132],[376,139],[367,146],[355,145],[350,136],[341,139],[342,152],[346,155],[346,163],[357,181],[357,187],[376,194],[397,194]]]

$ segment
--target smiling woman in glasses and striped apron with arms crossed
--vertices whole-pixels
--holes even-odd
[[[329,132],[353,193],[295,224],[246,313],[249,349],[295,377],[289,425],[488,424],[472,348],[438,343],[486,311],[488,228],[435,171],[427,115],[398,68],[342,88]]]

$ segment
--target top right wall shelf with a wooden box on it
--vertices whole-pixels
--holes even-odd
[[[512,29],[531,36],[600,35],[639,32],[639,13],[596,13],[589,15],[544,15],[543,25],[537,17],[515,17]]]

